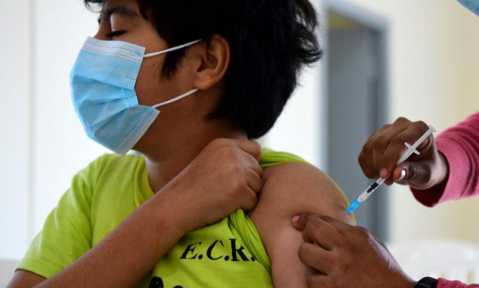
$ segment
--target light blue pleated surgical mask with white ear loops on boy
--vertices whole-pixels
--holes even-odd
[[[88,137],[117,154],[130,151],[160,114],[158,107],[198,91],[192,89],[153,107],[139,105],[135,83],[143,59],[199,41],[145,54],[145,47],[89,37],[70,74],[73,105]]]

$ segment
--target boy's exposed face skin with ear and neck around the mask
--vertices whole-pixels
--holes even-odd
[[[99,23],[95,38],[143,46],[146,47],[146,54],[170,48],[152,22],[142,17],[135,0],[105,1]],[[226,63],[227,66],[228,61],[227,58],[217,61],[216,57],[206,57],[207,54],[209,55],[206,45],[201,42],[188,47],[175,73],[168,78],[161,77],[166,54],[143,59],[135,84],[140,105],[153,106],[194,88],[202,91],[197,92],[196,96],[192,95],[182,101],[160,107],[160,116],[133,149],[148,154],[148,150],[161,149],[163,143],[178,138],[177,134],[187,135],[191,130],[200,130],[194,125],[201,125],[206,121],[205,115],[216,109],[220,97],[219,92],[215,93],[210,87],[220,81],[224,74],[222,72],[215,78],[217,72],[208,69],[205,63],[208,63],[208,59],[213,59],[212,63]]]

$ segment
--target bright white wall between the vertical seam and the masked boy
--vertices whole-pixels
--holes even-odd
[[[98,15],[82,0],[36,0],[33,233],[78,170],[107,152],[86,137],[70,98],[70,69]],[[32,235],[30,235],[32,236]]]

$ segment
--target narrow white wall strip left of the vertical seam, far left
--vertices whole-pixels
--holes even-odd
[[[27,1],[3,0],[0,9],[0,257],[16,258],[27,245],[30,22]],[[12,23],[15,23],[14,25]],[[13,216],[13,217],[12,217]]]

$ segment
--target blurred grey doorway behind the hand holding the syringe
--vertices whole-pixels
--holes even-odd
[[[387,21],[342,0],[325,0],[327,14],[327,172],[350,202],[371,184],[357,158],[369,136],[388,121]],[[387,241],[389,197],[381,187],[355,212],[357,224]]]

